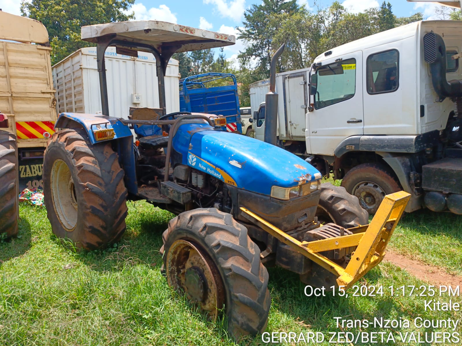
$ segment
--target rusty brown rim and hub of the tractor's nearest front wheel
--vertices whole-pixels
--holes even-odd
[[[215,321],[225,301],[220,274],[207,252],[188,240],[176,240],[167,253],[167,281]]]

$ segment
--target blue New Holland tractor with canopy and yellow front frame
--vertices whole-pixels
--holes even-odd
[[[211,320],[224,310],[235,338],[266,328],[266,266],[298,273],[311,286],[347,289],[381,262],[406,192],[387,196],[367,225],[356,197],[321,184],[321,174],[296,155],[223,131],[225,117],[166,113],[164,74],[171,55],[231,45],[234,36],[139,21],[85,26],[82,39],[97,44],[103,115],[61,113],[61,130],[50,139],[43,185],[58,237],[96,249],[121,239],[128,199],[170,210],[178,216],[160,250],[169,285]],[[158,109],[135,110],[128,120],[109,115],[109,46],[134,56],[154,54]],[[269,109],[277,106],[274,66],[281,50],[272,63],[267,142],[275,141],[276,114]]]

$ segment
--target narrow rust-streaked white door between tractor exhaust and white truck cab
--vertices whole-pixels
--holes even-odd
[[[284,78],[287,137],[305,136],[306,72]]]

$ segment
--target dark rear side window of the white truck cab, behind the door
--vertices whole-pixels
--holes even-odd
[[[398,59],[396,49],[371,54],[366,61],[366,88],[369,94],[382,94],[398,89]]]

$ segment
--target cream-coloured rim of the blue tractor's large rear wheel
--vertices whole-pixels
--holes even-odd
[[[77,224],[78,205],[74,181],[66,162],[61,159],[53,162],[50,179],[53,206],[58,220],[67,232],[72,232]]]

